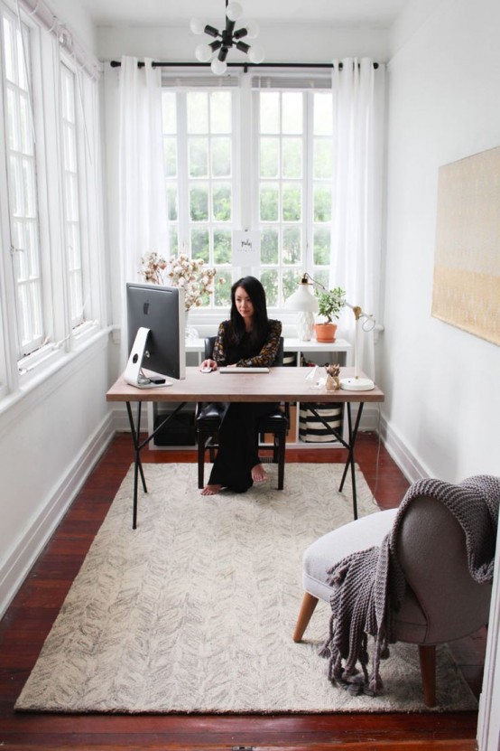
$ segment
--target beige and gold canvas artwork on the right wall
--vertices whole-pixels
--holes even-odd
[[[440,167],[432,315],[500,344],[500,146]]]

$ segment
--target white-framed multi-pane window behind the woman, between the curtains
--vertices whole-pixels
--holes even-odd
[[[227,284],[216,285],[206,308],[227,306],[239,272],[231,268],[232,230],[259,230],[260,267],[253,272],[268,306],[280,310],[304,271],[329,283],[331,84],[304,76],[255,77],[249,85],[245,75],[202,88],[191,78],[163,89],[170,250],[215,266]]]

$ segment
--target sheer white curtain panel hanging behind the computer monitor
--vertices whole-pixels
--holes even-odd
[[[168,255],[167,200],[162,154],[162,74],[144,59],[123,57],[119,69],[118,244],[122,331],[125,283],[141,281],[141,257],[152,250]],[[126,358],[125,336],[122,356]]]

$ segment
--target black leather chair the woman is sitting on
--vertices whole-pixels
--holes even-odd
[[[208,336],[205,339],[205,360],[211,359],[216,336]],[[273,366],[283,364],[283,338],[280,337],[280,346]],[[208,450],[210,462],[215,459],[215,451],[218,448],[218,428],[224,412],[224,405],[220,402],[200,402],[197,407],[196,435],[198,440],[198,487],[204,486],[205,453]],[[273,434],[273,454],[262,456],[263,463],[278,465],[278,490],[283,489],[284,484],[284,456],[286,446],[286,434],[290,425],[288,404],[284,407],[273,409],[271,414],[259,420],[259,448],[264,443],[264,434]]]

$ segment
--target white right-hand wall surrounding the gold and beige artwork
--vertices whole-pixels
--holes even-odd
[[[378,372],[387,437],[407,474],[455,482],[499,473],[500,350],[431,317],[438,170],[500,144],[500,4],[442,0],[412,35],[404,21],[388,66]]]

